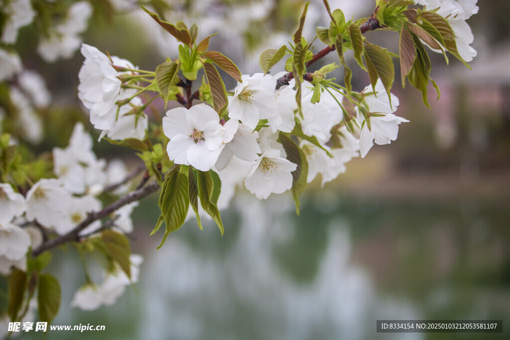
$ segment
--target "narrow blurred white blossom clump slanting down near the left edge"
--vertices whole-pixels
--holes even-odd
[[[11,102],[16,108],[17,124],[21,129],[23,138],[32,144],[38,144],[43,139],[43,126],[41,118],[30,106],[30,100],[16,87],[10,89]]]

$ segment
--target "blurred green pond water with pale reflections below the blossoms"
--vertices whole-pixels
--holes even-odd
[[[62,256],[63,304],[52,339],[486,339],[504,333],[377,334],[377,319],[510,320],[508,208],[313,193],[297,217],[290,196],[238,195],[225,233],[191,221],[156,250],[157,216],[142,202],[132,240],[144,255],[140,282],[111,307],[69,309],[83,282]],[[140,230],[141,229],[141,230]],[[55,256],[58,257],[58,256]],[[31,333],[30,337],[42,338]]]

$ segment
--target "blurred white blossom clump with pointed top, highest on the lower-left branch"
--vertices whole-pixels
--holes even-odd
[[[104,186],[106,161],[92,151],[92,138],[81,122],[74,125],[69,146],[53,148],[54,173],[73,194],[83,194],[88,187]]]

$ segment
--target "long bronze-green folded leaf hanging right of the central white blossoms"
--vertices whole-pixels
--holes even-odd
[[[299,197],[307,186],[308,177],[308,162],[304,152],[294,143],[292,139],[279,134],[279,140],[282,143],[285,152],[287,153],[287,160],[297,165],[296,170],[292,174],[292,198],[296,204],[296,214],[299,215]]]

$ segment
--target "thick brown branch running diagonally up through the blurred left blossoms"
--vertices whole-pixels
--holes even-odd
[[[82,231],[83,229],[85,229],[92,222],[102,219],[104,217],[107,217],[108,215],[110,215],[111,213],[116,211],[118,208],[120,208],[126,204],[129,204],[131,202],[138,201],[139,199],[142,199],[142,198],[158,191],[159,188],[160,188],[160,186],[158,184],[158,181],[155,180],[155,181],[151,182],[149,185],[143,187],[142,189],[133,191],[133,192],[123,196],[122,198],[118,199],[117,201],[115,201],[112,204],[108,205],[107,207],[103,208],[103,210],[100,210],[95,213],[89,213],[87,215],[87,218],[85,220],[83,220],[80,224],[78,224],[74,229],[72,229],[71,231],[67,232],[66,234],[64,234],[62,236],[59,236],[55,239],[51,239],[51,240],[43,243],[38,248],[34,249],[34,251],[32,252],[32,255],[37,256],[46,250],[55,248],[55,247],[60,246],[64,243],[79,240],[78,233],[80,231]]]

